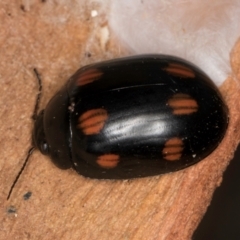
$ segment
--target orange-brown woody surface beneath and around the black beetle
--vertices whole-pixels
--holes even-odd
[[[240,44],[231,56],[233,75],[221,88],[229,128],[207,159],[176,173],[112,181],[60,170],[36,151],[6,201],[31,145],[32,69],[43,80],[44,107],[80,66],[123,53],[112,41],[102,48],[97,32],[104,19],[90,16],[98,5],[82,1],[77,11],[71,4],[36,1],[23,11],[18,1],[0,3],[0,239],[190,239],[240,139]]]

